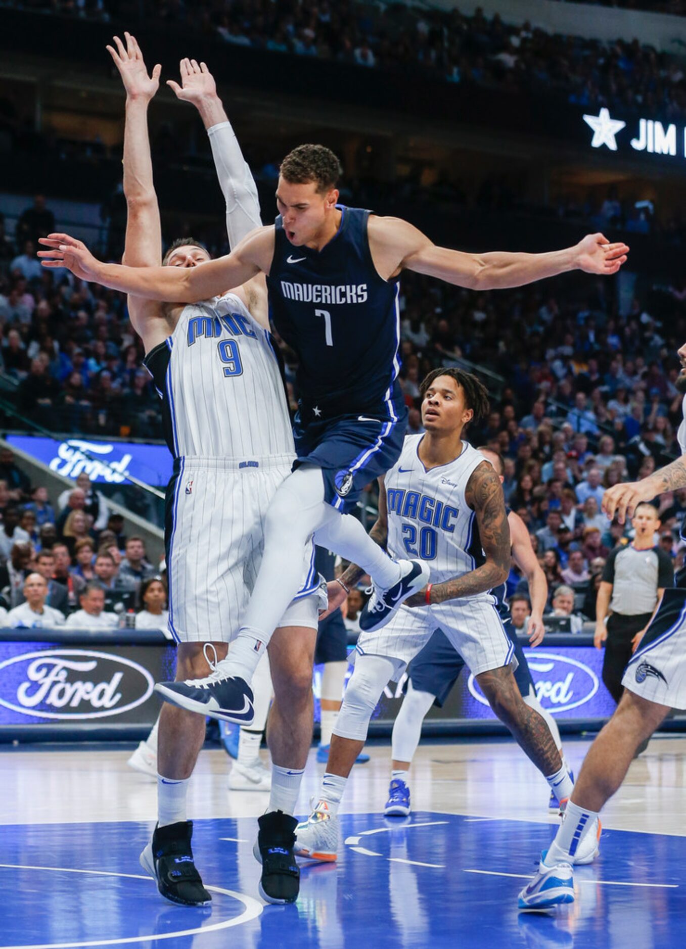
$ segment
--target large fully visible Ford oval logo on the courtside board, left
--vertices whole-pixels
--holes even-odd
[[[43,649],[0,662],[0,705],[37,718],[121,715],[154,686],[138,662],[88,649]]]

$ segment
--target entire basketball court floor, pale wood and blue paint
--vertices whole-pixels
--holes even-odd
[[[589,742],[568,739],[578,771]],[[0,752],[0,949],[139,945],[375,949],[667,949],[686,945],[686,738],[654,738],[603,813],[601,856],[575,873],[576,902],[520,913],[517,893],[557,818],[547,785],[507,739],[424,743],[414,812],[384,819],[387,743],[358,765],[335,865],[304,865],[300,899],[265,905],[252,857],[265,793],[229,792],[230,759],[201,754],[192,790],[196,864],[212,907],[174,906],[139,866],[155,783],[107,746]],[[263,752],[263,754],[265,754]],[[305,814],[324,766],[310,754]]]

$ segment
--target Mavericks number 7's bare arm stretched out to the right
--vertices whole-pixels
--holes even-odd
[[[609,275],[626,260],[626,244],[610,244],[603,234],[588,234],[575,247],[548,253],[464,253],[436,247],[412,224],[397,217],[370,218],[369,243],[384,278],[415,270],[469,289],[522,287],[567,270]]]

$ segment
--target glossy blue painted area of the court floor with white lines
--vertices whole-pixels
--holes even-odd
[[[603,831],[577,902],[521,914],[517,893],[550,825],[417,812],[404,822],[346,814],[337,865],[306,865],[299,901],[263,906],[255,821],[195,824],[195,858],[213,906],[158,896],[139,867],[149,827],[0,829],[0,947],[159,945],[174,949],[377,946],[461,949],[673,949],[686,944],[683,837]]]

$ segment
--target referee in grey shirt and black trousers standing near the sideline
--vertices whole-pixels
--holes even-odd
[[[652,504],[637,507],[632,526],[636,530],[632,543],[616,547],[607,558],[596,602],[593,642],[597,649],[605,643],[603,682],[616,702],[624,691],[621,678],[626,663],[653,619],[665,587],[674,586],[672,558],[654,543],[660,522]]]

